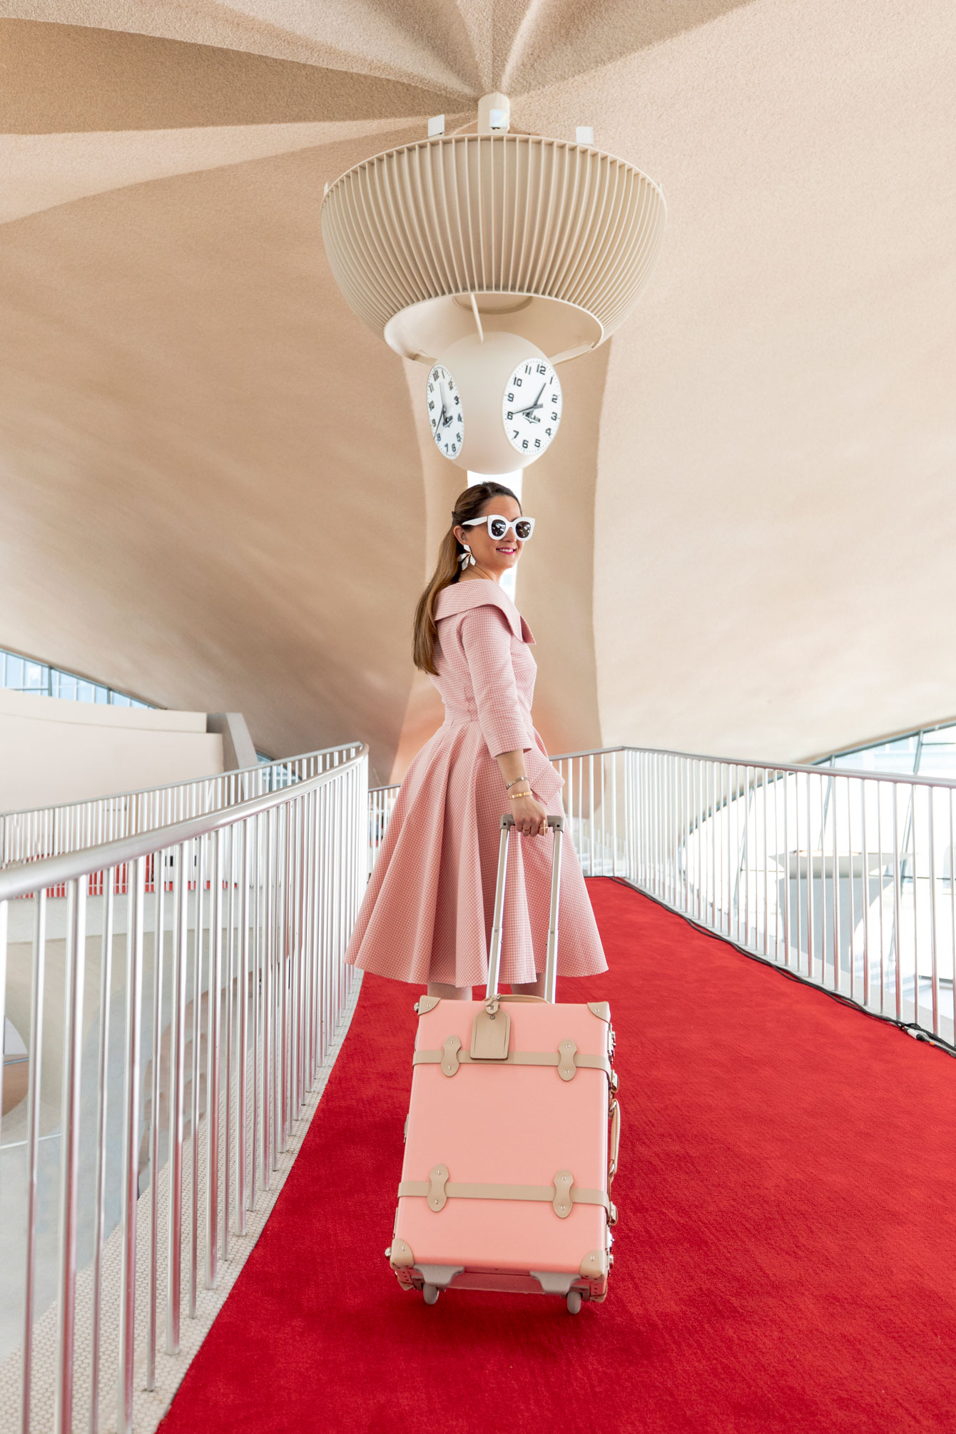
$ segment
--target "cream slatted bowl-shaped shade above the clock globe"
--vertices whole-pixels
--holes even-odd
[[[390,149],[330,186],[333,274],[363,323],[407,358],[430,363],[476,323],[520,334],[552,363],[573,358],[632,310],[661,242],[664,195],[591,145],[494,132],[489,102],[507,105],[486,96],[479,133]]]

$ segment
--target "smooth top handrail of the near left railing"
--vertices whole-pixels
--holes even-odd
[[[77,852],[64,852],[62,856],[44,856],[39,862],[20,862],[0,870],[0,902],[16,901],[30,892],[47,886],[64,886],[67,882],[79,880],[80,876],[90,876],[95,872],[106,870],[109,866],[123,866],[135,862],[138,856],[152,856],[153,852],[165,850],[168,846],[179,846],[181,842],[191,842],[198,836],[209,836],[234,822],[247,820],[268,812],[272,807],[288,802],[294,790],[297,797],[327,786],[345,771],[353,771],[368,757],[368,747],[363,746],[357,757],[343,761],[328,771],[320,771],[315,777],[297,782],[292,787],[281,787],[278,792],[267,792],[261,797],[249,797],[248,802],[238,802],[235,806],[222,807],[219,812],[209,812],[206,816],[193,816],[186,822],[175,822],[172,826],[153,827],[150,832],[139,832],[136,836],[120,836],[115,842],[103,842],[99,846],[83,846]]]

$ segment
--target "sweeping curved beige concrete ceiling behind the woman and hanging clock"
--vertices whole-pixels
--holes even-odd
[[[322,186],[503,87],[668,196],[565,366],[519,601],[555,749],[813,756],[956,713],[949,0],[17,0],[0,47],[0,645],[275,754],[434,721],[462,475]]]

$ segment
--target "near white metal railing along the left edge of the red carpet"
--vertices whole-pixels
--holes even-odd
[[[24,1434],[128,1434],[158,1341],[179,1351],[183,1302],[195,1314],[268,1190],[353,982],[367,786],[361,749],[218,813],[0,872],[0,1030],[6,997],[29,1053],[0,1131],[0,1239],[26,1228],[0,1266]]]

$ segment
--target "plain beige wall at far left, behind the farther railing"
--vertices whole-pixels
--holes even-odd
[[[0,690],[0,812],[222,771],[205,713],[143,711]]]

